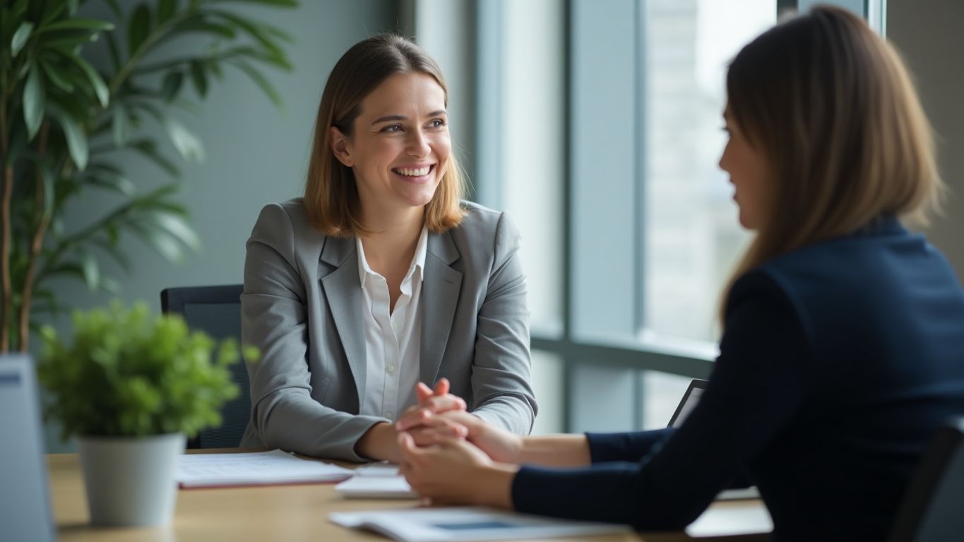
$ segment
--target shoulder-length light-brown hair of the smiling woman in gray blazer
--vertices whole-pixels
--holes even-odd
[[[361,114],[362,99],[392,75],[411,72],[435,79],[448,106],[448,87],[439,65],[401,36],[381,34],[359,41],[332,69],[318,106],[305,186],[308,221],[318,231],[335,237],[369,233],[362,226],[355,174],[335,158],[330,129],[335,126],[350,137],[355,118]],[[462,174],[454,155],[447,162],[439,188],[425,205],[425,224],[432,232],[458,225],[465,214],[461,206],[465,192]]]

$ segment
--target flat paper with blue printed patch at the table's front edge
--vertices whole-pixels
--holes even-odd
[[[333,512],[329,519],[341,527],[374,530],[402,542],[553,538],[630,531],[623,525],[559,520],[479,507]]]

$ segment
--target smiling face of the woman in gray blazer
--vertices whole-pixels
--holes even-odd
[[[355,171],[362,209],[391,212],[432,200],[452,142],[445,93],[431,76],[394,75],[362,99],[351,137],[333,127],[332,148]]]

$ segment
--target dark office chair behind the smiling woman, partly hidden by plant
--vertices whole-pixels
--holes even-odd
[[[161,291],[161,311],[181,315],[188,327],[204,331],[215,340],[234,337],[240,344],[243,290],[240,284],[167,288]],[[237,448],[241,444],[251,418],[248,370],[244,361],[230,365],[229,369],[240,389],[238,397],[222,406],[221,426],[201,429],[198,436],[188,440],[188,448]]]

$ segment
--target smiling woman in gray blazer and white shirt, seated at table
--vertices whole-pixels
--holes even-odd
[[[247,245],[242,339],[261,359],[244,446],[397,460],[392,422],[420,414],[418,382],[442,382],[444,408],[443,379],[486,422],[531,429],[519,232],[462,201],[447,100],[439,66],[397,36],[332,70],[305,196],[266,206]]]

